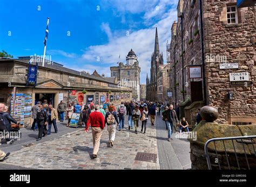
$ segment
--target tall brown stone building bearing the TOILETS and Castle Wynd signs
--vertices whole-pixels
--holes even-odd
[[[177,11],[169,71],[174,107],[180,104],[192,126],[203,105],[218,109],[218,123],[256,124],[255,6],[180,0]]]

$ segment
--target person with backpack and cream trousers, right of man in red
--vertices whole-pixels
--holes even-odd
[[[105,124],[107,124],[107,131],[109,131],[109,143],[111,147],[113,147],[114,138],[116,137],[115,121],[117,122],[117,125],[118,125],[119,121],[117,119],[117,112],[114,111],[113,105],[110,105],[109,111],[106,113],[106,116],[105,116]]]

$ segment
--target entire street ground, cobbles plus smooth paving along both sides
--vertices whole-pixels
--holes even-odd
[[[11,155],[0,162],[0,169],[189,169],[190,143],[176,138],[167,141],[165,122],[156,117],[155,126],[147,123],[146,134],[128,130],[127,116],[125,128],[116,131],[114,146],[110,147],[105,128],[100,140],[97,159],[92,159],[93,150],[91,130],[66,127],[58,123],[58,133],[36,141],[38,131],[23,128],[22,139],[13,145],[0,146]],[[148,160],[147,160],[148,159]],[[147,161],[146,161],[147,160]]]

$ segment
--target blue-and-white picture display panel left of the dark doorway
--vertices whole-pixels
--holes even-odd
[[[24,125],[30,124],[31,109],[32,109],[32,94],[29,93],[17,93],[15,98],[15,105],[13,95],[11,98],[11,116]]]

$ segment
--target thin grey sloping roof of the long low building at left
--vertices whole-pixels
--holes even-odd
[[[22,62],[22,63],[29,63],[29,59],[0,59],[0,62],[2,62],[2,61],[16,61],[16,62]],[[43,67],[42,62],[38,62],[38,66]],[[86,78],[89,78],[89,79],[92,79],[92,80],[97,80],[97,81],[102,81],[102,82],[107,82],[107,83],[113,83],[113,82],[105,79],[106,77],[102,78],[102,77],[97,77],[97,76],[93,76],[93,75],[88,75],[86,73],[76,71],[76,70],[73,70],[73,69],[64,68],[62,66],[56,66],[54,63],[53,63],[53,65],[48,64],[48,63],[44,63],[44,68],[57,70],[57,71],[62,71],[64,73],[69,73],[69,74],[73,74],[73,75],[83,76],[83,77],[86,77]]]

